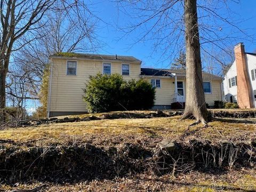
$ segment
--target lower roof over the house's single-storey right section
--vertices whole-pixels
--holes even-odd
[[[184,69],[150,69],[150,68],[141,68],[141,75],[145,76],[169,76],[173,77],[177,74],[178,76],[186,76],[186,70]],[[203,72],[203,78],[206,79],[220,79],[222,80],[222,77],[218,75],[213,75],[210,73]]]

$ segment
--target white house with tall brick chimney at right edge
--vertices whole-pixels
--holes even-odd
[[[256,98],[256,54],[246,53],[244,44],[234,47],[235,61],[223,80],[225,100],[239,107],[254,108]]]

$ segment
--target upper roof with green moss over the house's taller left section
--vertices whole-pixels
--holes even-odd
[[[73,59],[93,59],[93,60],[113,60],[113,61],[129,61],[129,62],[139,62],[139,59],[136,59],[132,56],[122,56],[122,55],[103,55],[103,54],[89,54],[89,53],[65,53],[60,52],[51,55],[52,58],[73,58]]]

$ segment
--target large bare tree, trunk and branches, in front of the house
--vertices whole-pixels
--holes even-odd
[[[119,0],[117,3],[119,10],[135,18],[135,23],[120,27],[124,36],[140,30],[141,35],[137,35],[135,43],[154,41],[153,52],[160,50],[164,60],[173,60],[176,50],[182,50],[184,42],[186,43],[187,97],[183,118],[194,116],[194,124],[202,122],[206,125],[201,51],[211,55],[209,44],[215,49],[225,51],[227,45],[249,38],[243,30],[234,25],[241,23],[241,20],[234,20],[233,11],[228,8],[227,1],[222,0]],[[129,6],[132,13],[127,11]],[[223,7],[226,12],[220,13],[219,10]],[[232,29],[227,29],[227,26]],[[241,38],[238,39],[237,34],[241,35]]]

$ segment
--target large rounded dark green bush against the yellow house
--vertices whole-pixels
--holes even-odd
[[[126,82],[118,74],[90,76],[84,92],[91,113],[149,109],[155,99],[155,89],[150,83],[144,79]]]

